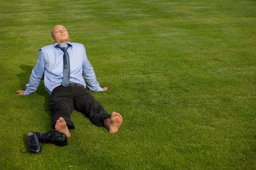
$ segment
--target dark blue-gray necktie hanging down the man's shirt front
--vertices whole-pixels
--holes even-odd
[[[69,55],[67,53],[67,48],[70,47],[70,45],[67,45],[67,47],[60,47],[60,45],[56,45],[56,48],[60,48],[61,51],[64,52],[63,55],[63,79],[62,79],[62,85],[64,87],[69,86],[69,79],[70,79],[70,60]]]

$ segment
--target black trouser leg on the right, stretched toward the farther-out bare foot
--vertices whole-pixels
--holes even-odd
[[[104,126],[104,119],[110,119],[111,115],[108,114],[102,105],[83,87],[72,88],[76,88],[76,97],[74,99],[75,110],[89,116],[94,125]]]

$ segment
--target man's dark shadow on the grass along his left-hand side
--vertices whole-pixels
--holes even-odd
[[[20,89],[26,89],[26,84],[29,82],[29,77],[32,73],[33,67],[30,65],[20,65],[20,68],[24,71],[23,73],[17,74],[17,78],[20,82]],[[49,114],[49,124],[45,124],[45,129],[49,129],[51,127],[52,121],[52,113],[49,109],[49,99],[50,95],[44,88],[44,80],[41,81],[41,84],[38,86],[38,89],[35,91],[36,94],[44,97],[44,110],[47,114]],[[50,126],[49,126],[50,125]],[[49,126],[49,127],[48,127]],[[43,132],[45,133],[45,132]]]

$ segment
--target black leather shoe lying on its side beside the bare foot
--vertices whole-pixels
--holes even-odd
[[[36,132],[36,136],[38,137],[38,140],[45,144],[56,144],[59,146],[67,145],[67,136],[65,133],[61,133],[58,130],[50,130],[47,133],[40,133]]]

